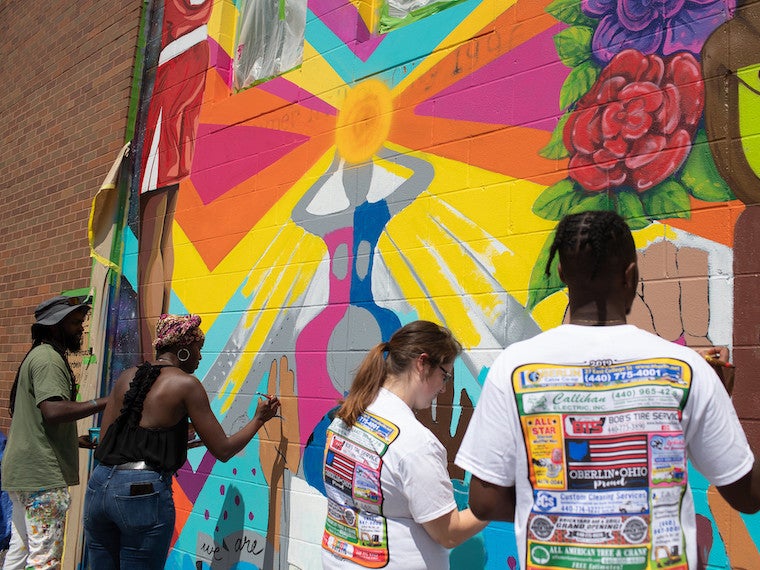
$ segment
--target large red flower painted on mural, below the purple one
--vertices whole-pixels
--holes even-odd
[[[570,177],[592,192],[649,190],[686,160],[703,107],[700,66],[690,53],[620,52],[565,124]]]

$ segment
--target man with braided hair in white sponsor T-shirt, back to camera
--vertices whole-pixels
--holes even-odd
[[[563,218],[568,322],[508,346],[456,457],[470,508],[513,521],[522,568],[697,568],[687,461],[735,509],[760,509],[755,457],[696,351],[626,324],[633,236],[614,212]]]

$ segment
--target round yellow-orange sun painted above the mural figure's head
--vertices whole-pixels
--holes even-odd
[[[369,160],[388,137],[392,111],[391,91],[382,81],[370,79],[351,89],[335,131],[340,156],[351,163]]]

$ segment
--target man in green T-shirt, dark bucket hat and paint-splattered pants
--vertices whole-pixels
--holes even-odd
[[[68,354],[82,348],[90,299],[58,295],[34,311],[32,347],[10,394],[11,428],[2,486],[13,505],[5,570],[59,568],[68,487],[79,484],[76,420],[103,410],[105,398],[77,401]]]

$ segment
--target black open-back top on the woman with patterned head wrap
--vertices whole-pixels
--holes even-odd
[[[103,435],[95,459],[103,465],[145,461],[159,472],[174,473],[187,459],[187,416],[172,427],[140,427],[143,403],[165,366],[146,362],[138,367],[124,394],[119,417]]]

